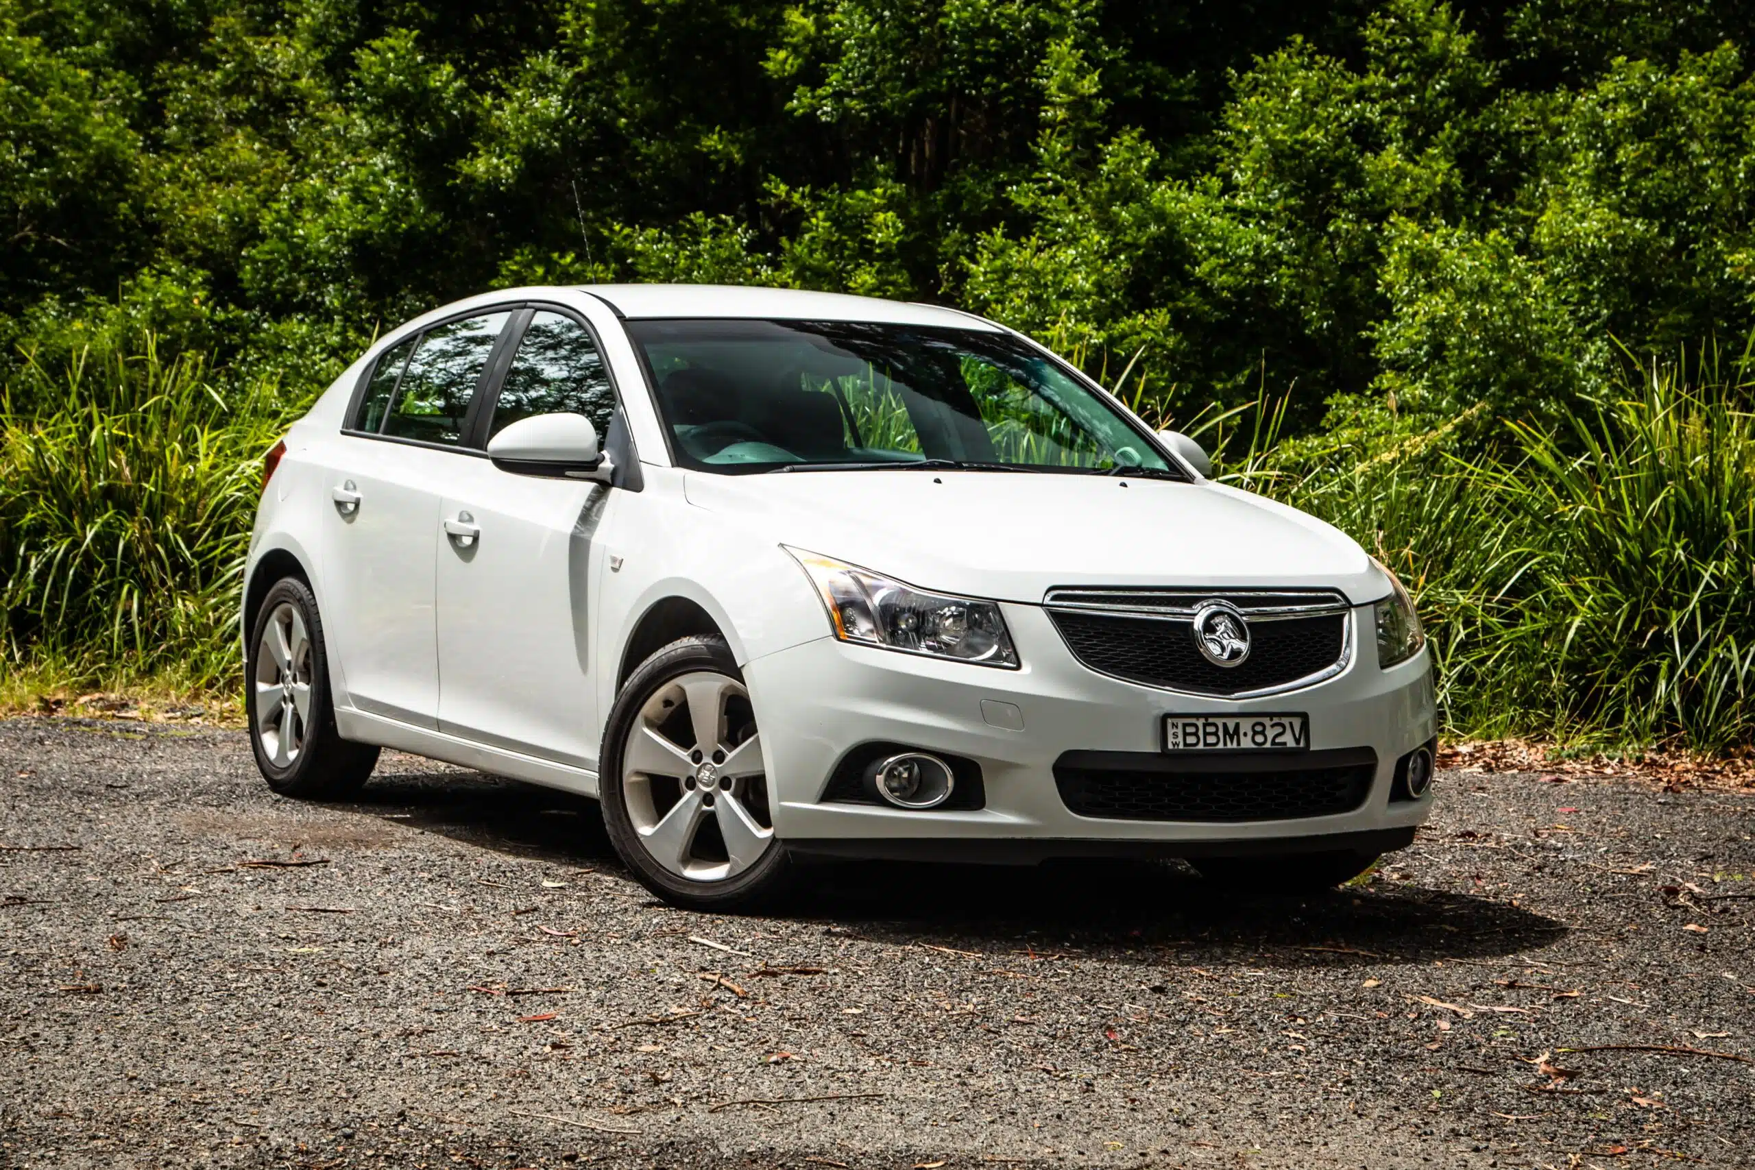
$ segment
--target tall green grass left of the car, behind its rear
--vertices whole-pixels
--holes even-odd
[[[230,686],[239,574],[272,386],[225,400],[200,358],[81,351],[26,363],[0,409],[0,649],[70,682],[165,674]]]

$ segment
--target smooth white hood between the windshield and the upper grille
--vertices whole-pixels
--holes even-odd
[[[688,502],[923,589],[1041,603],[1055,586],[1388,593],[1339,530],[1213,482],[1034,472],[690,472]]]

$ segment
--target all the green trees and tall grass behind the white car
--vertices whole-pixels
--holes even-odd
[[[0,0],[0,633],[226,677],[247,463],[379,326],[776,282],[1265,424],[1228,472],[1397,560],[1453,726],[1748,740],[1751,44],[1751,0]]]

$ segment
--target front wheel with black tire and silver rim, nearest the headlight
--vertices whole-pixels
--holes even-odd
[[[598,789],[609,842],[670,905],[744,910],[784,889],[755,709],[723,639],[679,639],[628,677]]]

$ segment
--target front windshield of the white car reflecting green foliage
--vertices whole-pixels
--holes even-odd
[[[1183,479],[1102,395],[1007,333],[628,321],[683,467],[971,467]]]

